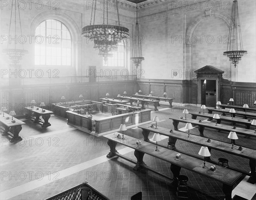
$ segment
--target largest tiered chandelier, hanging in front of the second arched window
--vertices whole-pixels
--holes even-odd
[[[98,25],[94,24],[95,18],[99,16],[96,16],[96,6],[98,5],[96,5],[96,0],[93,0],[90,25],[84,26],[82,29],[82,36],[94,42],[93,48],[99,50],[99,55],[103,56],[105,62],[108,61],[108,57],[113,55],[113,51],[117,50],[118,43],[129,38],[129,29],[120,26],[118,1],[116,1],[115,3],[118,25],[110,25],[108,23],[108,9],[110,9],[108,6],[111,5],[108,0],[103,0],[103,23]],[[105,13],[107,15],[107,24],[105,24]]]

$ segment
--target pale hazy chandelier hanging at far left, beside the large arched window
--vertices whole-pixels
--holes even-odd
[[[8,36],[9,37],[16,37],[17,36],[17,26],[16,26],[16,22],[18,22],[16,20],[16,10],[17,10],[17,14],[19,15],[19,24],[20,24],[20,35],[23,35],[22,34],[22,29],[21,29],[21,21],[20,21],[20,3],[18,2],[18,0],[12,0],[12,9],[11,9],[11,19],[10,19],[10,26],[9,26],[9,34]],[[13,11],[13,7],[15,7],[15,11],[14,11],[14,14],[12,14],[12,11]],[[14,19],[14,27],[15,27],[15,33],[11,35],[11,27],[12,27],[12,16],[15,16],[15,19]],[[3,49],[2,51],[4,54],[8,55],[9,56],[9,61],[11,61],[11,64],[17,64],[19,63],[19,61],[22,59],[22,56],[27,54],[28,51],[27,50],[24,50],[24,47],[23,47],[23,42],[22,42],[22,49],[16,49],[16,42],[15,42],[15,46],[14,46],[14,49],[9,49],[9,43],[7,43],[7,49]]]

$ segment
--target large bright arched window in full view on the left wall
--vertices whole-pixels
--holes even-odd
[[[71,66],[71,36],[57,20],[45,20],[35,30],[35,65]]]

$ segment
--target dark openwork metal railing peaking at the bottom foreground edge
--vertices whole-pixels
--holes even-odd
[[[110,200],[95,188],[84,182],[78,186],[70,188],[56,194],[46,200]]]

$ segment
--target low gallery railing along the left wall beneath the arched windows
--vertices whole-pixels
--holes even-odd
[[[94,79],[96,82],[113,82],[113,81],[133,81],[134,76],[97,76]],[[61,76],[61,77],[24,77],[24,78],[1,78],[1,86],[9,85],[53,85],[53,84],[73,84],[73,83],[88,83],[90,78],[88,76]]]

